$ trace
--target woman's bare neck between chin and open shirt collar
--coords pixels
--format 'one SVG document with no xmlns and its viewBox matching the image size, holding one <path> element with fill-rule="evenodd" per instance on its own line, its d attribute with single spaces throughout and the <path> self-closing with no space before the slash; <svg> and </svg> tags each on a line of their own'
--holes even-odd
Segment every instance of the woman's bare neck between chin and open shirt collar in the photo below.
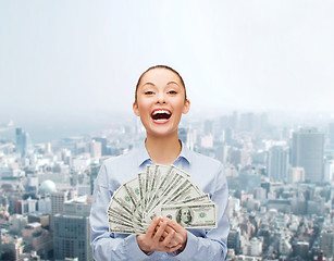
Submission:
<svg viewBox="0 0 334 261">
<path fill-rule="evenodd" d="M 168 137 L 147 135 L 145 146 L 153 163 L 163 165 L 172 164 L 177 159 L 182 149 L 177 132 Z"/>
</svg>

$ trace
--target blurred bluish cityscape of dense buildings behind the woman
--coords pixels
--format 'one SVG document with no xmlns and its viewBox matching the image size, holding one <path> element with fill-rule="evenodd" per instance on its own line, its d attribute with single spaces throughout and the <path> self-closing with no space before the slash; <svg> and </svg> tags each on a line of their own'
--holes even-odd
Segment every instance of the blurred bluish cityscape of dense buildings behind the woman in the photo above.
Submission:
<svg viewBox="0 0 334 261">
<path fill-rule="evenodd" d="M 185 146 L 224 164 L 226 260 L 333 261 L 334 122 L 272 122 L 232 112 L 178 129 Z M 139 120 L 44 144 L 11 122 L 0 138 L 1 260 L 92 260 L 94 182 L 104 159 L 144 141 Z"/>
</svg>

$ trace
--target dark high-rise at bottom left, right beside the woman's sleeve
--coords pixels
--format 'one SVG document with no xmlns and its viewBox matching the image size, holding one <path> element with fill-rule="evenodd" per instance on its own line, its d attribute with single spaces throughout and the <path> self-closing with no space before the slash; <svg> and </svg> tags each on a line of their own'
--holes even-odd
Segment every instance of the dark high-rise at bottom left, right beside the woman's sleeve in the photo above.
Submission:
<svg viewBox="0 0 334 261">
<path fill-rule="evenodd" d="M 89 245 L 89 198 L 83 196 L 66 201 L 64 212 L 54 215 L 54 259 L 77 258 L 79 261 L 92 260 Z"/>
</svg>

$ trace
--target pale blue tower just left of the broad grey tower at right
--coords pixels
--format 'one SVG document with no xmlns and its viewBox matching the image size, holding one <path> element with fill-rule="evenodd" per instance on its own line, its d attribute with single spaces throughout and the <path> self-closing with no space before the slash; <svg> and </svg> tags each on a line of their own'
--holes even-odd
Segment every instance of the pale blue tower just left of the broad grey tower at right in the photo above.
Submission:
<svg viewBox="0 0 334 261">
<path fill-rule="evenodd" d="M 268 175 L 272 182 L 287 182 L 288 148 L 273 146 L 269 151 Z"/>
</svg>

